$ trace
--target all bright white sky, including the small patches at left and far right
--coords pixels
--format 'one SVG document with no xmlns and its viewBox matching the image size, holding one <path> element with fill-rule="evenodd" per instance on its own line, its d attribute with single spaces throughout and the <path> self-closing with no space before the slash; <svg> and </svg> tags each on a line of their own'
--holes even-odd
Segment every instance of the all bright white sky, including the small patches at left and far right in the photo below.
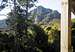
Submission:
<svg viewBox="0 0 75 52">
<path fill-rule="evenodd" d="M 38 0 L 37 6 L 42 5 L 45 8 L 50 8 L 52 10 L 57 10 L 61 13 L 61 0 Z M 0 14 L 7 14 L 9 13 L 10 7 L 6 7 L 4 10 L 0 12 Z M 71 13 L 72 18 L 75 18 L 73 13 Z M 6 16 L 0 16 L 0 20 L 6 19 Z"/>
</svg>

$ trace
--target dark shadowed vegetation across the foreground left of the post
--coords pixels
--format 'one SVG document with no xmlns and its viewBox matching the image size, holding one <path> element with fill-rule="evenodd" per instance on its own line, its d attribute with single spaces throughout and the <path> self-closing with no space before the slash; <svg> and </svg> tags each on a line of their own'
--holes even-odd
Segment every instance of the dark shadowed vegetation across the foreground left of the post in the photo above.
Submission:
<svg viewBox="0 0 75 52">
<path fill-rule="evenodd" d="M 0 52 L 58 52 L 59 41 L 56 33 L 59 34 L 59 31 L 52 30 L 51 27 L 47 30 L 55 35 L 47 34 L 38 25 L 29 26 L 27 35 L 23 32 L 15 35 L 0 32 Z"/>
</svg>

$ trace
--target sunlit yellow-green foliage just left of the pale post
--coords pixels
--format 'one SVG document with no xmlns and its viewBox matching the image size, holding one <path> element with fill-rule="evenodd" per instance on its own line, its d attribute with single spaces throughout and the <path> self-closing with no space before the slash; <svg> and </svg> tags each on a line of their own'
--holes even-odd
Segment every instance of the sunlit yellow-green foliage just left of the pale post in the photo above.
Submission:
<svg viewBox="0 0 75 52">
<path fill-rule="evenodd" d="M 48 42 L 53 43 L 56 39 L 59 39 L 59 23 L 53 22 L 44 28 L 48 34 Z"/>
</svg>

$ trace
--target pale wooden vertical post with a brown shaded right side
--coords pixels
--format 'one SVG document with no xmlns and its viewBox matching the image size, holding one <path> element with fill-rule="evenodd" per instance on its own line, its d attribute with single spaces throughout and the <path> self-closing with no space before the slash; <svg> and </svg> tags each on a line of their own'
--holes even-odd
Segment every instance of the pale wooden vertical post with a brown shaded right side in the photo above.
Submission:
<svg viewBox="0 0 75 52">
<path fill-rule="evenodd" d="M 70 0 L 62 1 L 61 13 L 61 52 L 72 52 L 71 50 L 71 7 Z"/>
</svg>

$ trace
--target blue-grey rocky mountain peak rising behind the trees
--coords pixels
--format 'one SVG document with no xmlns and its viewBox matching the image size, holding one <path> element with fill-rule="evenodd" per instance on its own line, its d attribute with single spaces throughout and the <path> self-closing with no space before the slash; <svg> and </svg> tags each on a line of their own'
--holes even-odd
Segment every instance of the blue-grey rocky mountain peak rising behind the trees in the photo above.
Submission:
<svg viewBox="0 0 75 52">
<path fill-rule="evenodd" d="M 36 9 L 32 10 L 31 15 L 35 14 L 34 22 L 38 23 L 40 21 L 50 22 L 53 19 L 60 19 L 60 13 L 57 10 L 52 10 L 38 6 Z"/>
</svg>

